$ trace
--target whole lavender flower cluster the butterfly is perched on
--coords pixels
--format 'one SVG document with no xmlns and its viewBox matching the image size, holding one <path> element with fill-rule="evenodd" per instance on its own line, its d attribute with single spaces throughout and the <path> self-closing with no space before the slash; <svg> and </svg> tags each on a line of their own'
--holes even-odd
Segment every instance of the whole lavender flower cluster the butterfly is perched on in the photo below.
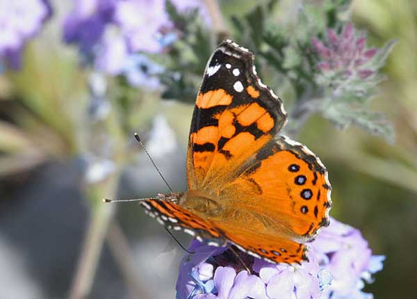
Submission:
<svg viewBox="0 0 417 299">
<path fill-rule="evenodd" d="M 332 219 L 311 242 L 309 261 L 270 264 L 240 252 L 194 240 L 181 261 L 177 299 L 368 299 L 365 282 L 382 270 L 385 257 L 373 255 L 361 232 Z"/>
</svg>

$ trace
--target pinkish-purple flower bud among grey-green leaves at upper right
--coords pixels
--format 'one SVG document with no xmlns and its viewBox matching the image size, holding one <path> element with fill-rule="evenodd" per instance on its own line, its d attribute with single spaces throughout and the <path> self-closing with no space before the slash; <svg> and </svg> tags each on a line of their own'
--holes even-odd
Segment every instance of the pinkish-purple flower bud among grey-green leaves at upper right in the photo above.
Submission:
<svg viewBox="0 0 417 299">
<path fill-rule="evenodd" d="M 342 79 L 367 79 L 376 73 L 370 61 L 378 49 L 366 49 L 366 37 L 357 37 L 351 23 L 337 35 L 333 29 L 327 30 L 327 42 L 313 38 L 312 44 L 319 56 L 318 68 L 325 76 Z"/>
</svg>

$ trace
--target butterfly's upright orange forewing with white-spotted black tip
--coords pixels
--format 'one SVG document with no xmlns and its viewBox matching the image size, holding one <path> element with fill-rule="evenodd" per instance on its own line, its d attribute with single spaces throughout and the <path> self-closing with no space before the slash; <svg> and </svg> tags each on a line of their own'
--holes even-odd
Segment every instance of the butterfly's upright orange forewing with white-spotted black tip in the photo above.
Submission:
<svg viewBox="0 0 417 299">
<path fill-rule="evenodd" d="M 215 192 L 286 121 L 281 100 L 254 69 L 254 55 L 229 40 L 208 60 L 187 155 L 188 188 Z"/>
</svg>

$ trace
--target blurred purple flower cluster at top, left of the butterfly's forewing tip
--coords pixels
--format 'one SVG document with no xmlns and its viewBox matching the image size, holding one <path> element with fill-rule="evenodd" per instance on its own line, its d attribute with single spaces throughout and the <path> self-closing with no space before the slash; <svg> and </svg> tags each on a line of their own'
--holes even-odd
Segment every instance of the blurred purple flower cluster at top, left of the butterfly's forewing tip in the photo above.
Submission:
<svg viewBox="0 0 417 299">
<path fill-rule="evenodd" d="M 174 1 L 174 5 L 179 11 L 203 8 L 191 0 Z M 126 67 L 135 60 L 132 55 L 161 52 L 176 36 L 165 0 L 77 0 L 63 26 L 65 42 L 78 45 L 88 63 L 112 76 L 126 74 Z M 132 74 L 131 69 L 128 73 Z M 138 86 L 140 75 L 134 76 L 127 78 Z M 136 81 L 130 82 L 131 78 Z"/>
</svg>

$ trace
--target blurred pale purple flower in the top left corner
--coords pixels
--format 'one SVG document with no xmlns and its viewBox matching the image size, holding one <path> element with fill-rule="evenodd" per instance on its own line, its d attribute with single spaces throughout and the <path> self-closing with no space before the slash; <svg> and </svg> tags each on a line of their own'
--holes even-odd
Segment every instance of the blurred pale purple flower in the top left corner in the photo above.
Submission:
<svg viewBox="0 0 417 299">
<path fill-rule="evenodd" d="M 24 45 L 50 16 L 47 0 L 0 0 L 0 59 L 19 68 Z"/>
</svg>

